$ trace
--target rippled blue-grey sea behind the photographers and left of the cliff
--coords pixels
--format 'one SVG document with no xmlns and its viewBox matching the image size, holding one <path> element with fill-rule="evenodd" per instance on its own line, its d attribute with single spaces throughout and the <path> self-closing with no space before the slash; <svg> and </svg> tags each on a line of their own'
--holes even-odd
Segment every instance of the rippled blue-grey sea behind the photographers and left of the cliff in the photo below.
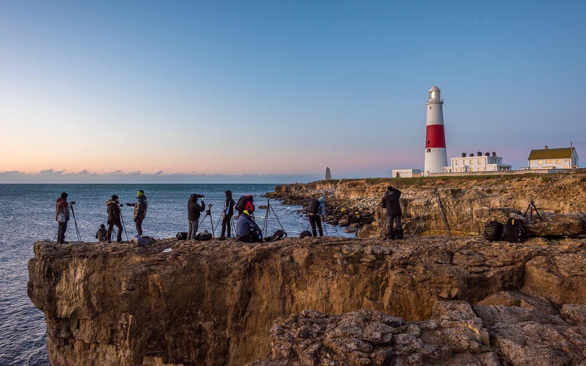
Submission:
<svg viewBox="0 0 586 366">
<path fill-rule="evenodd" d="M 122 203 L 135 202 L 142 189 L 148 198 L 147 218 L 142 224 L 145 235 L 155 238 L 175 237 L 188 231 L 186 206 L 189 195 L 205 195 L 211 203 L 214 228 L 224 207 L 224 191 L 230 189 L 235 200 L 244 194 L 261 195 L 274 190 L 274 184 L 0 184 L 0 365 L 48 365 L 46 325 L 43 313 L 26 295 L 27 263 L 33 257 L 33 244 L 53 240 L 57 232 L 54 221 L 55 200 L 62 191 L 69 194 L 81 240 L 95 241 L 100 224 L 105 224 L 105 201 L 117 194 Z M 255 197 L 255 206 L 267 199 Z M 308 219 L 296 213 L 299 206 L 284 206 L 271 200 L 271 206 L 289 236 L 305 230 Z M 134 207 L 124 206 L 122 218 L 128 237 L 136 235 L 132 214 Z M 256 220 L 262 228 L 266 210 L 257 208 Z M 203 217 L 203 216 L 202 216 Z M 209 217 L 201 225 L 211 231 Z M 269 232 L 280 228 L 271 214 Z M 326 224 L 331 236 L 353 237 L 342 228 Z M 216 232 L 217 234 L 217 232 Z M 219 234 L 217 234 L 219 235 Z M 66 240 L 76 241 L 73 217 L 67 225 Z M 123 235 L 124 240 L 126 239 Z"/>
</svg>

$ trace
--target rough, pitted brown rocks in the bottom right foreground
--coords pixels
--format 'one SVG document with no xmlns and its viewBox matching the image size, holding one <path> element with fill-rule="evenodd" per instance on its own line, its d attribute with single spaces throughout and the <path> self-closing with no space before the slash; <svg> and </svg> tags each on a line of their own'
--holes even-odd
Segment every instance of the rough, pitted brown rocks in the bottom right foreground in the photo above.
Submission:
<svg viewBox="0 0 586 366">
<path fill-rule="evenodd" d="M 270 339 L 267 358 L 248 366 L 577 365 L 586 357 L 584 326 L 534 309 L 464 302 L 437 302 L 424 321 L 306 310 L 277 320 Z"/>
</svg>

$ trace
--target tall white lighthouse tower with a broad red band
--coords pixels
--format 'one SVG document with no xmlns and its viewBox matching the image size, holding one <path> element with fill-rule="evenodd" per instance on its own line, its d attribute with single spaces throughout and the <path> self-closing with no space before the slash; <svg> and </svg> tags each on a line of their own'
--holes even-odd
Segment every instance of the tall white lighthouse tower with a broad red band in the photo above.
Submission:
<svg viewBox="0 0 586 366">
<path fill-rule="evenodd" d="M 448 154 L 445 151 L 444 112 L 440 88 L 431 87 L 427 105 L 427 131 L 425 133 L 425 165 L 424 175 L 443 173 L 448 165 Z"/>
</svg>

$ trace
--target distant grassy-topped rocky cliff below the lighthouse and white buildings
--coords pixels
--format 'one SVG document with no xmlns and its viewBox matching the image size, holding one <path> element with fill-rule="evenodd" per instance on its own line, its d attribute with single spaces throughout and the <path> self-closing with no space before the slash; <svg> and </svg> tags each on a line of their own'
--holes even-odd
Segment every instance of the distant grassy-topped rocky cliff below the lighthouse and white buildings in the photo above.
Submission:
<svg viewBox="0 0 586 366">
<path fill-rule="evenodd" d="M 379 207 L 386 187 L 402 191 L 401 210 L 411 231 L 425 211 L 435 187 L 452 235 L 478 235 L 492 220 L 505 223 L 510 214 L 523 214 L 533 199 L 547 225 L 577 221 L 574 230 L 558 235 L 586 234 L 582 212 L 586 212 L 586 172 L 550 175 L 503 175 L 464 177 L 418 177 L 396 179 L 349 179 L 319 181 L 307 184 L 284 184 L 275 187 L 268 197 L 284 200 L 285 204 L 304 204 L 307 197 L 325 194 L 328 198 L 326 221 L 360 229 L 362 238 L 377 237 L 384 222 Z M 560 215 L 573 214 L 572 218 Z M 577 216 L 576 216 L 577 215 Z M 535 216 L 535 215 L 534 215 Z M 576 218 L 578 217 L 578 218 Z M 538 223 L 533 220 L 533 224 Z M 546 226 L 547 226 L 546 225 Z M 581 227 L 581 228 L 579 228 Z M 544 234 L 543 227 L 530 227 L 530 234 Z M 417 231 L 418 235 L 444 235 L 445 228 L 437 201 L 432 200 Z M 549 235 L 549 234 L 547 234 Z"/>
</svg>

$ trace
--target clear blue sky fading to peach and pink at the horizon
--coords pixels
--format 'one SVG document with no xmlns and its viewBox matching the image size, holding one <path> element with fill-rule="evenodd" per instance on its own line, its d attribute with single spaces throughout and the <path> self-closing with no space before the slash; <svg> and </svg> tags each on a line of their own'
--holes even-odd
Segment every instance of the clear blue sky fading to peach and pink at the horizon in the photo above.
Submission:
<svg viewBox="0 0 586 366">
<path fill-rule="evenodd" d="M 584 1 L 0 2 L 0 183 L 300 182 L 586 142 Z M 586 162 L 586 144 L 575 145 Z M 581 163 L 581 166 L 585 163 Z"/>
</svg>

